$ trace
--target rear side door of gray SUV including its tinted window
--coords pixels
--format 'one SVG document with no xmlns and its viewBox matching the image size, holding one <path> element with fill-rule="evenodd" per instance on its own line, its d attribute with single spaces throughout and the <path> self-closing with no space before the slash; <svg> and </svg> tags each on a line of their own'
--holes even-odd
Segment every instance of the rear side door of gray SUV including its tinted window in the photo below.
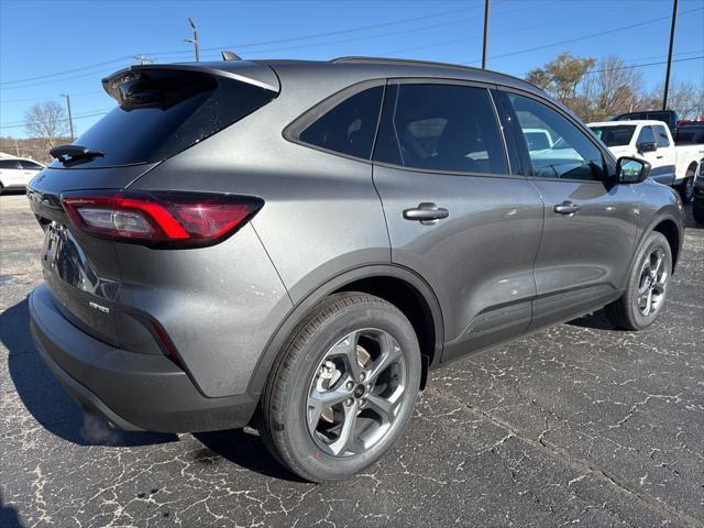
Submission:
<svg viewBox="0 0 704 528">
<path fill-rule="evenodd" d="M 488 87 L 389 81 L 374 162 L 392 261 L 442 307 L 442 361 L 524 332 L 542 202 L 512 174 Z"/>
</svg>

